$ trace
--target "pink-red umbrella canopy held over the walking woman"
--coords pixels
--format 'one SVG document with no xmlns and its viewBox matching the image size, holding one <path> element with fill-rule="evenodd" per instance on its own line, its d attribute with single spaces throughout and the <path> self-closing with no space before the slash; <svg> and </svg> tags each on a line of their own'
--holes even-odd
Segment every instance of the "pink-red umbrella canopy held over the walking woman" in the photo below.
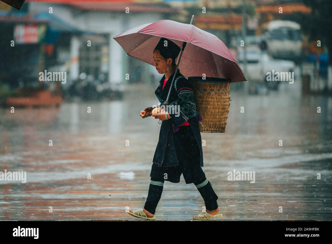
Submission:
<svg viewBox="0 0 332 244">
<path fill-rule="evenodd" d="M 161 37 L 173 41 L 179 47 L 184 41 L 188 42 L 179 64 L 184 76 L 202 77 L 205 74 L 206 77 L 225 78 L 230 82 L 246 80 L 226 45 L 213 34 L 194 25 L 160 20 L 131 28 L 114 37 L 114 40 L 129 56 L 154 66 L 153 50 Z"/>
</svg>

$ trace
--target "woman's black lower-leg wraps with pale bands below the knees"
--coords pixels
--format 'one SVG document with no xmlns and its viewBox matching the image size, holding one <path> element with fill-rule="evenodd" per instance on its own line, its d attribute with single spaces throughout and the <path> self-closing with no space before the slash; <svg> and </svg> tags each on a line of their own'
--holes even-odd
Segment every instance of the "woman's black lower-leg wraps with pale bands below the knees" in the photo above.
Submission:
<svg viewBox="0 0 332 244">
<path fill-rule="evenodd" d="M 151 181 L 164 182 L 164 179 L 151 177 Z M 194 182 L 194 184 L 197 186 L 199 184 L 202 184 L 205 181 L 206 181 L 206 178 L 196 181 L 196 182 Z M 159 203 L 161 194 L 163 192 L 163 188 L 164 188 L 163 186 L 156 186 L 156 185 L 150 184 L 149 192 L 148 192 L 147 199 L 146 199 L 146 202 L 144 205 L 145 210 L 149 211 L 152 214 L 155 214 L 157 204 Z M 205 186 L 200 187 L 197 190 L 201 194 L 207 210 L 212 211 L 214 209 L 217 209 L 218 196 L 213 191 L 212 185 L 209 181 Z"/>
</svg>

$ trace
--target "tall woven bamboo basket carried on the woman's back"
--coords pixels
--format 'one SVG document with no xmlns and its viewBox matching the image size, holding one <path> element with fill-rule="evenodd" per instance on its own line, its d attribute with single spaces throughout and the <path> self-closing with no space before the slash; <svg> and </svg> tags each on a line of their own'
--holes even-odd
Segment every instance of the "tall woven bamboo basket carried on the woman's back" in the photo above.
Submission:
<svg viewBox="0 0 332 244">
<path fill-rule="evenodd" d="M 202 121 L 201 132 L 225 132 L 230 105 L 230 81 L 228 79 L 192 76 L 188 77 L 194 86 L 197 112 Z"/>
</svg>

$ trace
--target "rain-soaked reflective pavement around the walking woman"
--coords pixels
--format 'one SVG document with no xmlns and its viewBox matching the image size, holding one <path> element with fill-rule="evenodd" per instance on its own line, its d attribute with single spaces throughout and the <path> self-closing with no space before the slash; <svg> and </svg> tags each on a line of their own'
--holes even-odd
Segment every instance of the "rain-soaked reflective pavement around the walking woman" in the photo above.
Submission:
<svg viewBox="0 0 332 244">
<path fill-rule="evenodd" d="M 157 105 L 156 87 L 128 85 L 124 101 L 1 108 L 0 171 L 26 171 L 27 183 L 0 181 L 0 220 L 145 221 L 125 208 L 147 197 L 160 124 L 139 112 Z M 298 81 L 265 96 L 230 91 L 226 133 L 201 133 L 219 220 L 332 220 L 332 97 L 303 97 Z M 229 181 L 233 170 L 255 183 Z M 181 176 L 165 182 L 155 216 L 192 220 L 203 206 Z"/>
</svg>

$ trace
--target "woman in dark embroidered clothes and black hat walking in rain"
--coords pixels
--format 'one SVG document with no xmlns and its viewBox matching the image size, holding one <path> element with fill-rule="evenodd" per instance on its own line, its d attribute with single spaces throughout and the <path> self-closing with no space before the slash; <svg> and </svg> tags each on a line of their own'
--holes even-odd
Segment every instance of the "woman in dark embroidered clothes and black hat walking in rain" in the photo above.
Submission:
<svg viewBox="0 0 332 244">
<path fill-rule="evenodd" d="M 200 116 L 196 111 L 193 86 L 179 70 L 175 74 L 175 59 L 179 53 L 180 48 L 166 38 L 161 38 L 153 51 L 156 70 L 159 74 L 164 74 L 155 94 L 163 104 L 175 75 L 168 101 L 169 105 L 174 105 L 175 108 L 178 106 L 179 111 L 176 112 L 173 109 L 170 114 L 167 109 L 165 111 L 160 108 L 160 113 L 152 114 L 152 107 L 144 109 L 142 118 L 153 116 L 162 123 L 152 160 L 151 180 L 144 208 L 128 210 L 128 213 L 135 217 L 156 219 L 154 214 L 163 191 L 164 181 L 179 183 L 181 174 L 186 184 L 194 183 L 206 206 L 206 212 L 193 216 L 193 219 L 204 220 L 222 216 L 217 214 L 219 212 L 218 197 L 202 170 L 203 150 L 198 127 Z"/>
</svg>

